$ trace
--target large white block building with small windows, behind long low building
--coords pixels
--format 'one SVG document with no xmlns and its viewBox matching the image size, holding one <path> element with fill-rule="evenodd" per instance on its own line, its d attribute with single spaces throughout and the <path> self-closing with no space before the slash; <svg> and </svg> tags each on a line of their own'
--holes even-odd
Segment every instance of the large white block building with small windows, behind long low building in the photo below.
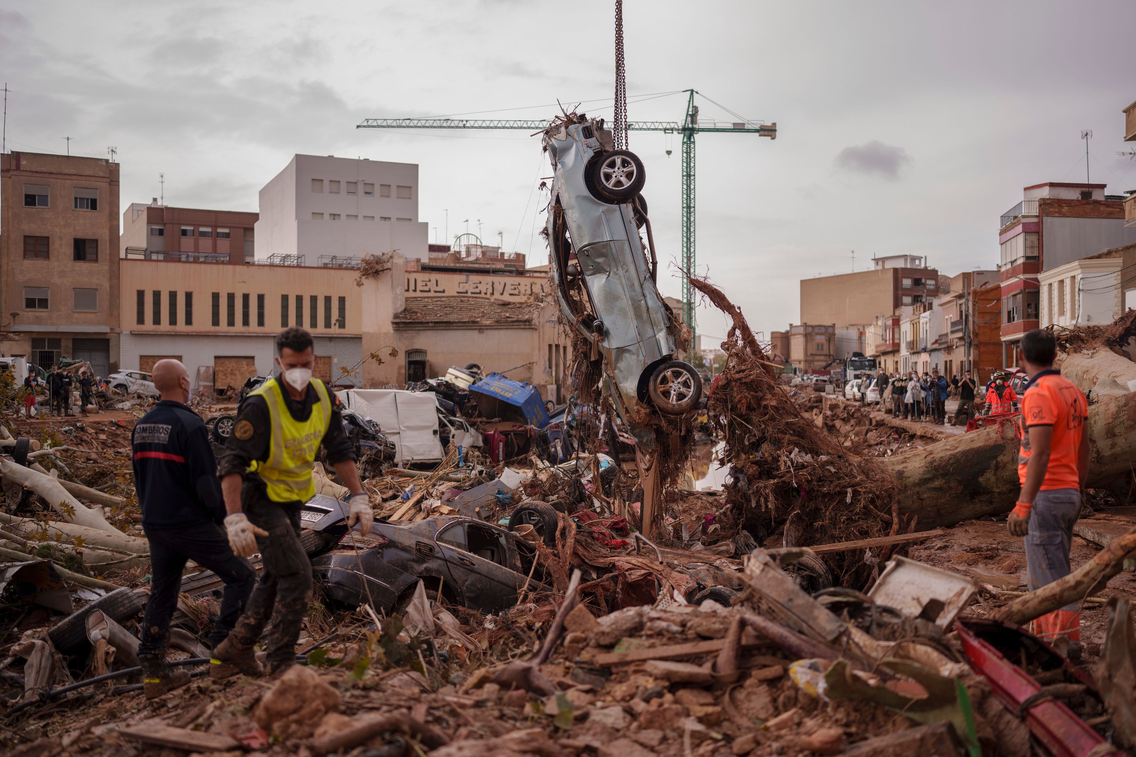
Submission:
<svg viewBox="0 0 1136 757">
<path fill-rule="evenodd" d="M 303 255 L 300 264 L 325 266 L 398 250 L 425 261 L 427 239 L 417 163 L 298 154 L 260 190 L 258 260 Z"/>
</svg>

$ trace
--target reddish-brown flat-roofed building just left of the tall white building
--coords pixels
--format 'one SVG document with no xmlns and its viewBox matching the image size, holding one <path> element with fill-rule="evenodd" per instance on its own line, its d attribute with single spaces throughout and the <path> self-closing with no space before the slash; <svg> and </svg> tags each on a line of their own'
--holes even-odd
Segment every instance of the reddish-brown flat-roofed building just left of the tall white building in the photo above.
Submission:
<svg viewBox="0 0 1136 757">
<path fill-rule="evenodd" d="M 123 211 L 118 254 L 133 260 L 251 263 L 258 213 L 132 202 Z"/>
</svg>

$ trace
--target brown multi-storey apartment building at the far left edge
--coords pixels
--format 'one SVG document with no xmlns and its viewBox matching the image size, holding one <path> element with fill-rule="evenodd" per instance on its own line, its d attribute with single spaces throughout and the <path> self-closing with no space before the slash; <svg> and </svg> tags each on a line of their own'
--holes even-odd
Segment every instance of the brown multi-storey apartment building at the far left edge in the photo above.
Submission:
<svg viewBox="0 0 1136 757">
<path fill-rule="evenodd" d="M 118 163 L 0 155 L 0 352 L 119 363 Z"/>
</svg>

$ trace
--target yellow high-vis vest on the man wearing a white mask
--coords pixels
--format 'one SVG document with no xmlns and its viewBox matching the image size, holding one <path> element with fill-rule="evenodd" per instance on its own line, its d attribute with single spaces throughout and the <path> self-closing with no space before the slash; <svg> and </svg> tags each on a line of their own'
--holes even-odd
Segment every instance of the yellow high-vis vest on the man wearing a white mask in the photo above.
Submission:
<svg viewBox="0 0 1136 757">
<path fill-rule="evenodd" d="M 272 438 L 268 459 L 253 461 L 249 470 L 265 482 L 268 498 L 273 502 L 307 502 L 316 496 L 311 466 L 332 421 L 332 398 L 319 379 L 311 379 L 311 386 L 319 396 L 319 403 L 311 406 L 311 414 L 306 421 L 292 418 L 278 379 L 265 381 L 250 393 L 265 398 L 272 420 Z"/>
</svg>

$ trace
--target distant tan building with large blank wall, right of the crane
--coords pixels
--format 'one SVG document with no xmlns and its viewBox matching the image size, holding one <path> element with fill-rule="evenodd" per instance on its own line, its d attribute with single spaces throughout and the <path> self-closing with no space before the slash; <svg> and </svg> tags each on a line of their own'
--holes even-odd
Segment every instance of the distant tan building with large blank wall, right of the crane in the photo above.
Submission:
<svg viewBox="0 0 1136 757">
<path fill-rule="evenodd" d="M 938 271 L 922 255 L 874 258 L 870 271 L 801 279 L 801 322 L 849 328 L 938 294 Z"/>
</svg>

